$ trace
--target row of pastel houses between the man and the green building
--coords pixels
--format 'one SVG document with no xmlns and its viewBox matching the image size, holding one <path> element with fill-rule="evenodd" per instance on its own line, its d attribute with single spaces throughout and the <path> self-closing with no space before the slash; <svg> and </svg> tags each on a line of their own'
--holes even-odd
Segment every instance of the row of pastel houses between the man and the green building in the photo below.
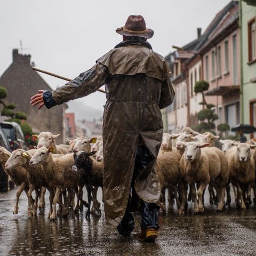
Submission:
<svg viewBox="0 0 256 256">
<path fill-rule="evenodd" d="M 195 93 L 196 82 L 209 82 L 206 102 L 212 103 L 219 123 L 231 127 L 240 122 L 240 54 L 238 1 L 230 1 L 220 10 L 197 39 L 166 56 L 172 70 L 175 102 L 166 109 L 168 131 L 198 124 L 202 94 Z"/>
</svg>

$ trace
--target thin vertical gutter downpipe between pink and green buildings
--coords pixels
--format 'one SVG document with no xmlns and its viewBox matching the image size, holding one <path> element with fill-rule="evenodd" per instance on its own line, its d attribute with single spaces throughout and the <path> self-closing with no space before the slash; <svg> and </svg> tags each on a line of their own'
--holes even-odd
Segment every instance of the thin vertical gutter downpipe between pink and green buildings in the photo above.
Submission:
<svg viewBox="0 0 256 256">
<path fill-rule="evenodd" d="M 242 35 L 242 0 L 239 0 L 239 36 L 240 36 L 240 123 L 244 123 L 244 77 L 243 77 L 243 35 Z"/>
</svg>

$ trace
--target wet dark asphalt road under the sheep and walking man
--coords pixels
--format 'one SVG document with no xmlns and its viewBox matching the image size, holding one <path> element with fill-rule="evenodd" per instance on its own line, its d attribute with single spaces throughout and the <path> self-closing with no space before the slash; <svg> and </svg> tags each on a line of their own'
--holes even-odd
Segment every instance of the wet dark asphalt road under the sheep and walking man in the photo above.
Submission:
<svg viewBox="0 0 256 256">
<path fill-rule="evenodd" d="M 46 197 L 47 198 L 47 197 Z M 99 197 L 100 198 L 100 197 Z M 0 194 L 0 255 L 256 255 L 256 207 L 249 210 L 226 209 L 215 213 L 205 197 L 204 215 L 187 215 L 176 209 L 160 215 L 160 236 L 156 243 L 137 240 L 137 228 L 130 237 L 121 237 L 115 227 L 101 217 L 85 220 L 85 211 L 68 219 L 47 219 L 46 209 L 37 217 L 27 217 L 27 199 L 23 193 L 18 215 L 13 215 L 15 190 Z M 101 207 L 103 210 L 103 207 Z M 103 212 L 103 211 L 102 211 Z"/>
</svg>

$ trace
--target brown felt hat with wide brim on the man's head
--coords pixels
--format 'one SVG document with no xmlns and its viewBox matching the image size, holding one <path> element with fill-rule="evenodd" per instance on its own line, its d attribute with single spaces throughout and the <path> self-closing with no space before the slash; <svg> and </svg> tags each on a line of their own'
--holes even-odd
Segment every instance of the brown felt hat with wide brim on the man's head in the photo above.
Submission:
<svg viewBox="0 0 256 256">
<path fill-rule="evenodd" d="M 146 27 L 146 22 L 141 15 L 130 15 L 124 27 L 117 28 L 116 33 L 123 36 L 140 36 L 147 39 L 154 35 L 154 31 Z"/>
</svg>

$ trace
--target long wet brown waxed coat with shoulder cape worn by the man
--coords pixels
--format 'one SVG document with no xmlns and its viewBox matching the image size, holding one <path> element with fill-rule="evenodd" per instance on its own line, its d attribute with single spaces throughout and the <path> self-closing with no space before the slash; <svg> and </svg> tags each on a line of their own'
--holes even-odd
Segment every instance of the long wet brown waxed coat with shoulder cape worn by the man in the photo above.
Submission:
<svg viewBox="0 0 256 256">
<path fill-rule="evenodd" d="M 93 68 L 50 95 L 50 101 L 61 104 L 106 84 L 103 198 L 106 219 L 115 226 L 126 210 L 139 141 L 155 158 L 138 176 L 137 194 L 148 203 L 157 203 L 161 194 L 154 165 L 163 134 L 160 109 L 174 98 L 169 76 L 165 59 L 151 50 L 149 43 L 130 40 L 118 44 Z"/>
</svg>

